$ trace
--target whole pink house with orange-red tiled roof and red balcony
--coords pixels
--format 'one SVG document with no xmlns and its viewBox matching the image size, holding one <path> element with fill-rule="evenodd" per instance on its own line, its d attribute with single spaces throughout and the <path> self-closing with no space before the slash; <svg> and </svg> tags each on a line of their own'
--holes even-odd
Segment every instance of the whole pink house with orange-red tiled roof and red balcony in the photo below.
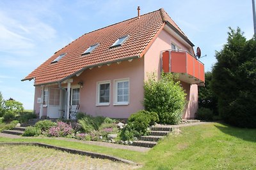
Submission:
<svg viewBox="0 0 256 170">
<path fill-rule="evenodd" d="M 84 34 L 55 52 L 25 80 L 35 81 L 40 117 L 70 118 L 70 110 L 128 118 L 143 110 L 143 82 L 161 71 L 179 75 L 187 93 L 183 118 L 194 118 L 204 64 L 193 43 L 160 10 Z"/>
</svg>

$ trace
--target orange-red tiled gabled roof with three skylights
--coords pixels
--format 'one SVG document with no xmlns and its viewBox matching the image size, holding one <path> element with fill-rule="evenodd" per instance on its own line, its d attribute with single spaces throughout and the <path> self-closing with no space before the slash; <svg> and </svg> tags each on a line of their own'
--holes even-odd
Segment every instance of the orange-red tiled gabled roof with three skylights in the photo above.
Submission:
<svg viewBox="0 0 256 170">
<path fill-rule="evenodd" d="M 88 67 L 142 57 L 165 24 L 170 25 L 182 38 L 190 42 L 184 32 L 161 8 L 141 15 L 140 18 L 131 18 L 84 34 L 54 53 L 22 81 L 35 78 L 35 85 L 60 83 Z M 122 46 L 109 48 L 116 39 L 126 35 L 129 38 Z M 92 53 L 82 55 L 88 47 L 97 43 L 99 45 Z M 191 46 L 193 46 L 192 43 Z M 51 63 L 63 53 L 65 53 L 63 58 L 58 62 Z"/>
</svg>

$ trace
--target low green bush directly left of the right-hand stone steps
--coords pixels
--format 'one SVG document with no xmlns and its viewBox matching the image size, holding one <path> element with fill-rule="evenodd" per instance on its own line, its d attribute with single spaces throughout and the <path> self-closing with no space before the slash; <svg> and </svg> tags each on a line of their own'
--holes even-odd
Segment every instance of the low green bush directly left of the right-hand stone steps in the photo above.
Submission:
<svg viewBox="0 0 256 170">
<path fill-rule="evenodd" d="M 147 134 L 147 128 L 157 121 L 159 121 L 159 118 L 156 112 L 138 111 L 129 117 L 120 137 L 124 140 L 132 140 L 134 137 L 143 136 Z"/>
</svg>

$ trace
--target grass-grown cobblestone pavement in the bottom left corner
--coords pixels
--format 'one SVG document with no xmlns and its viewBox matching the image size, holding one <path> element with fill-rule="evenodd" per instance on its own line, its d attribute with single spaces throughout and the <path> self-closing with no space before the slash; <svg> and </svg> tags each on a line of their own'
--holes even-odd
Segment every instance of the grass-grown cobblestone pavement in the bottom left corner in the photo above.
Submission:
<svg viewBox="0 0 256 170">
<path fill-rule="evenodd" d="M 0 146 L 0 169 L 136 169 L 138 166 L 92 159 L 37 146 Z"/>
</svg>

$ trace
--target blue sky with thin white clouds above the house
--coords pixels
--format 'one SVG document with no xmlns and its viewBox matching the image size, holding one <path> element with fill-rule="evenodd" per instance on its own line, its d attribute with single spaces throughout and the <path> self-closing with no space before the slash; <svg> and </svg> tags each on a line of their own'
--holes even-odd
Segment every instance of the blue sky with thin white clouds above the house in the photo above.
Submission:
<svg viewBox="0 0 256 170">
<path fill-rule="evenodd" d="M 140 13 L 164 10 L 195 45 L 205 71 L 227 42 L 228 27 L 253 37 L 251 0 L 0 0 L 0 92 L 33 109 L 34 82 L 20 81 L 63 46 L 86 32 Z"/>
</svg>

